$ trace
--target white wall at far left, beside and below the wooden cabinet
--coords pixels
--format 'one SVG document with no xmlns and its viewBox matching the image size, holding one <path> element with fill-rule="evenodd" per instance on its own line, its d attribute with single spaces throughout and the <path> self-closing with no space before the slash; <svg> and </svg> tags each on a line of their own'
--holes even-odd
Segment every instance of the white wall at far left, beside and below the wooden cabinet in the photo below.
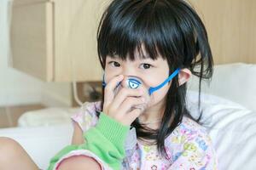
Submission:
<svg viewBox="0 0 256 170">
<path fill-rule="evenodd" d="M 71 105 L 70 83 L 47 83 L 9 67 L 9 0 L 0 0 L 0 106 Z"/>
</svg>

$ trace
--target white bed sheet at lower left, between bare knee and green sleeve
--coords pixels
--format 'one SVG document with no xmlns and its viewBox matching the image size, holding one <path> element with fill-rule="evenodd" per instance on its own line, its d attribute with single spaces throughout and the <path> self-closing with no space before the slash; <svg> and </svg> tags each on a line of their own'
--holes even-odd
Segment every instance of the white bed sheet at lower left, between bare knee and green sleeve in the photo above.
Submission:
<svg viewBox="0 0 256 170">
<path fill-rule="evenodd" d="M 41 169 L 47 169 L 49 160 L 71 143 L 71 124 L 53 127 L 13 127 L 0 129 L 0 136 L 15 139 Z"/>
</svg>

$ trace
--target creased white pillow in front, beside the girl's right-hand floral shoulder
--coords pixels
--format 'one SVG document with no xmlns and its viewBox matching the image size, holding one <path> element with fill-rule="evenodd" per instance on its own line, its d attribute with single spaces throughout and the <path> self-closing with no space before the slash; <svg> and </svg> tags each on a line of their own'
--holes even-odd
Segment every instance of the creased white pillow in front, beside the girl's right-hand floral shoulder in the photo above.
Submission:
<svg viewBox="0 0 256 170">
<path fill-rule="evenodd" d="M 189 91 L 188 108 L 198 116 L 198 93 Z M 207 127 L 220 170 L 253 170 L 256 167 L 256 111 L 230 100 L 201 94 L 201 122 Z"/>
</svg>

